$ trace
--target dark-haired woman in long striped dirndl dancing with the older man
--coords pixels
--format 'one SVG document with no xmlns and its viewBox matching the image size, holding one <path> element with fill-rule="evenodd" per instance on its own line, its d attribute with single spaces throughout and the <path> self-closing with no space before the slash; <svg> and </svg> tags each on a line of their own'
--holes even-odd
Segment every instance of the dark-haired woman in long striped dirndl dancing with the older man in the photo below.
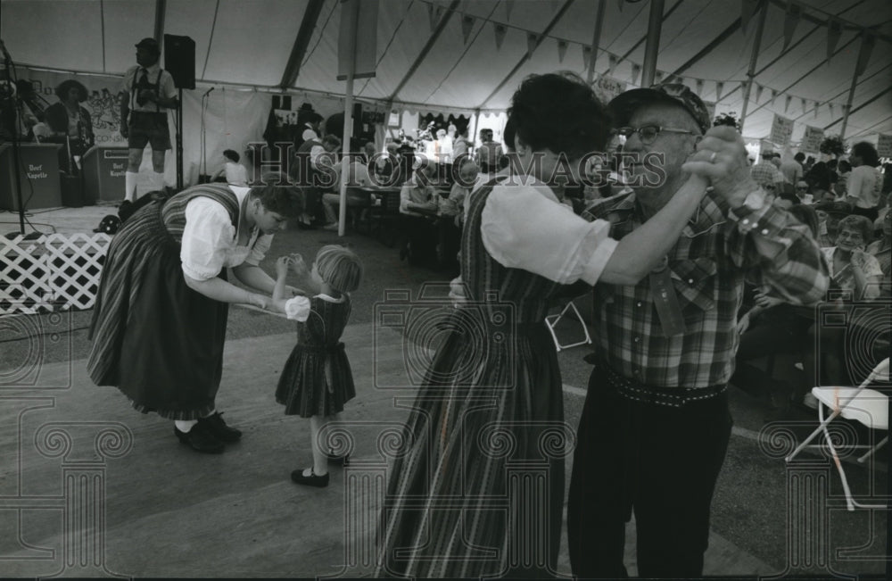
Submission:
<svg viewBox="0 0 892 581">
<path fill-rule="evenodd" d="M 505 131 L 515 171 L 470 197 L 464 298 L 387 475 L 377 577 L 558 574 L 574 429 L 545 316 L 599 280 L 646 276 L 706 192 L 691 178 L 641 229 L 609 238 L 609 222 L 582 219 L 556 195 L 562 178 L 580 178 L 586 154 L 603 151 L 608 130 L 572 73 L 533 75 L 516 91 Z"/>
</svg>

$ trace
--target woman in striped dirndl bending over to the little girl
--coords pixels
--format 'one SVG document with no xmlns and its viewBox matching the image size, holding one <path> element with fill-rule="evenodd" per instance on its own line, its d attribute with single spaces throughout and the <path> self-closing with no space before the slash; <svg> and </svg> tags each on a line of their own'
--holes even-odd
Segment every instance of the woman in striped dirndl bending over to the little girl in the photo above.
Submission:
<svg viewBox="0 0 892 581">
<path fill-rule="evenodd" d="M 265 175 L 264 184 L 287 184 Z M 148 203 L 109 246 L 96 296 L 87 369 L 133 407 L 175 421 L 196 452 L 223 452 L 242 433 L 216 409 L 229 303 L 268 308 L 260 269 L 272 236 L 302 211 L 293 187 L 190 187 Z M 227 268 L 254 292 L 227 282 Z"/>
</svg>

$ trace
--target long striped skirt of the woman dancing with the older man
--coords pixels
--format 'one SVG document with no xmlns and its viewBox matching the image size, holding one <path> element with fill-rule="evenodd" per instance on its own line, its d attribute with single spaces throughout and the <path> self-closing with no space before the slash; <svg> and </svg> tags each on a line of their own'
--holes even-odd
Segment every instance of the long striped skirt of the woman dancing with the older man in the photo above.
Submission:
<svg viewBox="0 0 892 581">
<path fill-rule="evenodd" d="M 558 358 L 544 323 L 495 344 L 453 331 L 388 474 L 376 577 L 557 573 L 564 458 Z"/>
</svg>

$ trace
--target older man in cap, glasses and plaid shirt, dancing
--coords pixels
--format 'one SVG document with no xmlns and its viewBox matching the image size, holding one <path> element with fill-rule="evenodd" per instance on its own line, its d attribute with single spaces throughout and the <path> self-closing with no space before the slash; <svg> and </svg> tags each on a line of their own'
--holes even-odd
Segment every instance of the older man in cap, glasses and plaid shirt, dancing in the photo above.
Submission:
<svg viewBox="0 0 892 581">
<path fill-rule="evenodd" d="M 807 227 L 764 203 L 737 130 L 710 129 L 690 89 L 635 89 L 608 108 L 625 137 L 632 189 L 586 213 L 613 222 L 611 237 L 654 216 L 686 170 L 709 178 L 712 191 L 657 270 L 634 286 L 594 287 L 595 369 L 574 452 L 570 560 L 578 577 L 626 577 L 634 511 L 640 577 L 699 577 L 731 436 L 726 387 L 744 277 L 812 304 L 827 289 L 827 265 Z"/>
</svg>

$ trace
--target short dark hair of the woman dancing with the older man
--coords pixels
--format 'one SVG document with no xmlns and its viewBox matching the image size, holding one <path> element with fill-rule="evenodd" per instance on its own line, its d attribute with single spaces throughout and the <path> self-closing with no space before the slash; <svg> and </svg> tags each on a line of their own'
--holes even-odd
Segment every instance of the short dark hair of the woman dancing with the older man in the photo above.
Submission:
<svg viewBox="0 0 892 581">
<path fill-rule="evenodd" d="M 520 139 L 574 159 L 604 151 L 609 137 L 607 109 L 573 72 L 530 75 L 511 97 L 505 142 L 512 149 Z"/>
</svg>

